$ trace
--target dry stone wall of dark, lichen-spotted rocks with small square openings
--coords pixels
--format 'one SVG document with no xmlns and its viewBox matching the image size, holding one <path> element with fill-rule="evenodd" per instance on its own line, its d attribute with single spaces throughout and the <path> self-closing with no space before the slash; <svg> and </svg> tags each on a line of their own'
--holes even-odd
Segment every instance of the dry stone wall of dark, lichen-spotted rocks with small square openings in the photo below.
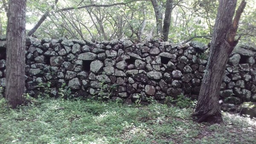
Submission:
<svg viewBox="0 0 256 144">
<path fill-rule="evenodd" d="M 163 102 L 167 96 L 198 97 L 207 60 L 207 45 L 183 45 L 159 40 L 133 43 L 111 40 L 37 40 L 26 37 L 26 92 L 38 95 L 38 84 L 50 82 L 50 94 L 68 86 L 73 97 L 101 92 L 111 99 L 147 104 L 148 98 Z M 230 55 L 221 85 L 220 99 L 240 104 L 256 101 L 256 46 L 236 47 Z M 204 56 L 207 58 L 207 55 Z M 5 87 L 6 38 L 0 36 L 0 86 Z M 108 95 L 111 93 L 111 95 Z"/>
</svg>

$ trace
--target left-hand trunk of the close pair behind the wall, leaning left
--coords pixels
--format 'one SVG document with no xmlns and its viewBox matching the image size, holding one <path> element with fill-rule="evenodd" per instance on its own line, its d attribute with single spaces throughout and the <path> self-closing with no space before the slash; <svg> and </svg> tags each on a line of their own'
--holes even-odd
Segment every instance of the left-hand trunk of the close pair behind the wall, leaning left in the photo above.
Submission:
<svg viewBox="0 0 256 144">
<path fill-rule="evenodd" d="M 162 27 L 163 14 L 162 14 L 161 5 L 159 6 L 157 4 L 157 0 L 151 0 L 151 3 L 154 8 L 156 22 L 157 22 L 157 35 L 159 37 L 162 37 L 162 35 L 163 35 L 163 27 Z"/>
</svg>

